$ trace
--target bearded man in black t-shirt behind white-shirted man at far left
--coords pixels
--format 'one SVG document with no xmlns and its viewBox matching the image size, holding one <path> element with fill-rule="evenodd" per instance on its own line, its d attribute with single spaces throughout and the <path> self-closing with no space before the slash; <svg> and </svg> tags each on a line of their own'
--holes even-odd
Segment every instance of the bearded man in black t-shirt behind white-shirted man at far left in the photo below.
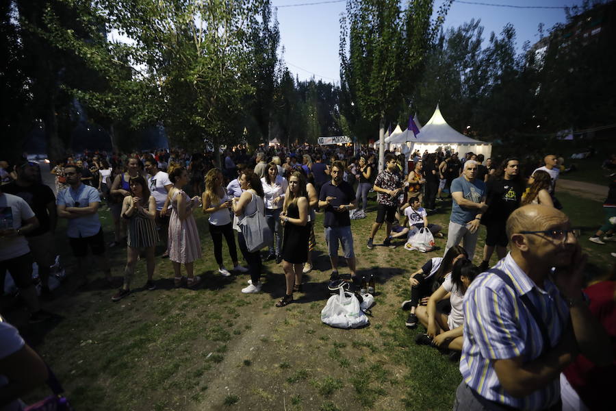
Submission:
<svg viewBox="0 0 616 411">
<path fill-rule="evenodd" d="M 49 267 L 54 260 L 54 234 L 57 224 L 55 196 L 48 186 L 40 182 L 38 164 L 21 160 L 16 164 L 17 179 L 2 187 L 4 192 L 21 197 L 38 219 L 38 228 L 33 229 L 25 238 L 30 247 L 30 253 L 38 264 L 40 277 L 40 296 L 51 298 L 49 290 Z"/>
</svg>

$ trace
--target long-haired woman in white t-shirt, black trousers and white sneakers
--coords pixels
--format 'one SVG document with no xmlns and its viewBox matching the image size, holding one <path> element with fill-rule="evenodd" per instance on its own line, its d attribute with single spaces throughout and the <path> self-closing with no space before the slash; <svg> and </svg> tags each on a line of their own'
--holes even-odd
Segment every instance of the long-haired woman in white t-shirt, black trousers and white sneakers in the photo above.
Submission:
<svg viewBox="0 0 616 411">
<path fill-rule="evenodd" d="M 218 263 L 218 273 L 224 277 L 229 277 L 231 273 L 224 268 L 222 262 L 222 236 L 227 240 L 229 255 L 233 262 L 233 271 L 246 273 L 248 269 L 240 266 L 238 262 L 238 249 L 235 247 L 235 235 L 233 234 L 233 223 L 231 222 L 231 197 L 227 195 L 227 190 L 222 187 L 222 172 L 218 169 L 211 169 L 205 175 L 205 191 L 201 195 L 203 200 L 203 213 L 209 214 L 209 235 L 214 242 L 214 258 Z"/>
</svg>

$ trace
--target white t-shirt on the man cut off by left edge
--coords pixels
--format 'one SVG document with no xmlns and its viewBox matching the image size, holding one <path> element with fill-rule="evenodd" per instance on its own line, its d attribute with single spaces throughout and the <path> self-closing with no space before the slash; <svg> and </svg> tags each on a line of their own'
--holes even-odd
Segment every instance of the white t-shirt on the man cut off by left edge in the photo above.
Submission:
<svg viewBox="0 0 616 411">
<path fill-rule="evenodd" d="M 22 222 L 34 217 L 28 203 L 16 195 L 0 193 L 0 227 L 1 229 L 21 228 Z M 24 236 L 0 238 L 0 261 L 10 260 L 30 252 L 28 241 Z"/>
</svg>

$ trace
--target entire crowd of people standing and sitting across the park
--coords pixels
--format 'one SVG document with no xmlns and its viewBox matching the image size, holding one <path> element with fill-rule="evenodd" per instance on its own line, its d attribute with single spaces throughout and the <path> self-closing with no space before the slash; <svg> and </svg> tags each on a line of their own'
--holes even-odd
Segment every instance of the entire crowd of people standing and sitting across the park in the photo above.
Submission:
<svg viewBox="0 0 616 411">
<path fill-rule="evenodd" d="M 30 321 L 50 317 L 40 309 L 31 273 L 35 261 L 41 298 L 51 298 L 49 266 L 58 218 L 67 220 L 66 236 L 83 284 L 92 273 L 86 264 L 91 253 L 95 267 L 115 287 L 106 250 L 126 247 L 123 284 L 112 296 L 119 301 L 131 293 L 142 258 L 146 290 L 156 288 L 157 255 L 172 262 L 175 286 L 194 288 L 204 281 L 194 273 L 194 263 L 202 258 L 194 213 L 201 210 L 207 215 L 218 274 L 248 273 L 242 292 L 257 293 L 263 286 L 263 260 L 275 260 L 285 275 L 275 306 L 283 307 L 304 291 L 303 274 L 313 269 L 317 213 L 322 213 L 319 237 L 329 255 L 331 281 L 365 284 L 356 275 L 351 219 L 372 211 L 368 195 L 373 191 L 374 223 L 364 234 L 368 249 L 377 245 L 383 223 L 384 247 L 395 248 L 397 238 L 424 227 L 444 238 L 443 227 L 428 223 L 428 216 L 440 212 L 437 204 L 451 201 L 443 257 L 431 258 L 411 274 L 410 299 L 402 308 L 410 310 L 407 327 L 426 328 L 416 343 L 459 361 L 463 382 L 455 409 L 556 410 L 561 409 L 561 390 L 563 406 L 573 407 L 566 409 L 583 409 L 580 404 L 590 406 L 606 381 L 616 383 L 616 295 L 606 297 L 606 289 L 613 292 L 616 273 L 606 279 L 605 288 L 581 292 L 585 257 L 577 240 L 580 231 L 571 227 L 556 198 L 556 155 L 546 155 L 541 166 L 531 164 L 530 173 L 518 158 L 496 164 L 482 154 L 459 158 L 441 149 L 415 151 L 408 159 L 388 151 L 382 171 L 370 147 L 355 152 L 352 147 L 300 145 L 251 153 L 238 146 L 224 151 L 221 160 L 217 167 L 211 152 L 182 150 L 84 153 L 58 160 L 51 169 L 57 195 L 42 184 L 36 162 L 16 162 L 3 175 L 8 184 L 0 188 L 0 273 L 3 278 L 10 271 Z M 605 222 L 590 238 L 598 245 L 616 240 L 616 156 L 604 166 L 612 171 Z M 114 240 L 108 244 L 99 219 L 103 206 L 114 221 Z M 272 233 L 264 255 L 251 248 L 241 228 L 255 214 L 264 217 Z M 475 266 L 480 225 L 485 226 L 485 246 Z M 223 237 L 229 265 L 224 264 Z M 338 269 L 341 245 L 348 274 Z M 498 262 L 493 265 L 495 251 Z M 374 292 L 374 286 L 362 291 Z M 611 307 L 608 314 L 601 311 L 605 307 Z M 612 367 L 607 377 L 600 368 L 606 364 Z M 594 372 L 604 379 L 595 384 Z"/>
</svg>

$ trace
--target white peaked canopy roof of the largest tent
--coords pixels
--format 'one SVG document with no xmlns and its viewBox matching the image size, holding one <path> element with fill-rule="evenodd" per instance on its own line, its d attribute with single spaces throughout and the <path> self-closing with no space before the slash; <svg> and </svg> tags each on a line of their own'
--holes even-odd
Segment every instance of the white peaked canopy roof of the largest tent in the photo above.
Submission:
<svg viewBox="0 0 616 411">
<path fill-rule="evenodd" d="M 444 150 L 457 151 L 460 155 L 472 151 L 489 158 L 492 153 L 490 142 L 475 140 L 452 129 L 443 118 L 438 104 L 432 118 L 421 128 L 417 138 L 409 141 L 411 152 L 419 150 L 423 153 L 428 150 L 428 153 L 433 153 L 438 147 L 442 147 Z"/>
</svg>

